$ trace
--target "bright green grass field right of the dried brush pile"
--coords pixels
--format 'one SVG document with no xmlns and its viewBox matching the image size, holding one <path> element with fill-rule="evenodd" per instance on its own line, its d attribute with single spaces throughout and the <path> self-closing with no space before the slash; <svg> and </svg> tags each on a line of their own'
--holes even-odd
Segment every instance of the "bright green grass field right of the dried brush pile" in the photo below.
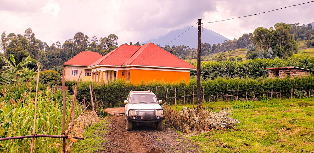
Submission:
<svg viewBox="0 0 314 153">
<path fill-rule="evenodd" d="M 213 111 L 234 106 L 213 102 Z M 314 98 L 257 101 L 252 109 L 234 109 L 235 129 L 191 136 L 201 152 L 313 152 Z M 192 107 L 192 105 L 187 106 Z M 174 107 L 182 109 L 183 106 Z"/>
</svg>

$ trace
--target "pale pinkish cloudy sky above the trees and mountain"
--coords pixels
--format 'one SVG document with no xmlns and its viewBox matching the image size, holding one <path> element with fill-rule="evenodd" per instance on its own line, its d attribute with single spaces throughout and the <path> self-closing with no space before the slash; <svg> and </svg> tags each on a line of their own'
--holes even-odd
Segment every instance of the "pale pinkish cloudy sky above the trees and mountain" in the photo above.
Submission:
<svg viewBox="0 0 314 153">
<path fill-rule="evenodd" d="M 202 22 L 256 14 L 311 0 L 1 0 L 0 31 L 23 34 L 32 28 L 48 45 L 63 43 L 78 31 L 90 38 L 115 34 L 119 45 L 148 41 L 172 30 Z M 269 28 L 277 22 L 300 25 L 314 22 L 314 2 L 271 13 L 204 24 L 229 39 Z M 178 38 L 180 39 L 180 37 Z"/>
</svg>

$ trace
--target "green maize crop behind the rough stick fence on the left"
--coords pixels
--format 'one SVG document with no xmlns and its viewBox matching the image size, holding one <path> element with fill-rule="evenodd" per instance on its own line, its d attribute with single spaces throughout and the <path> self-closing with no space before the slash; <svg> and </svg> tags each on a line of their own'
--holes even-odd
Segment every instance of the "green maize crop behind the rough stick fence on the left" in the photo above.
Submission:
<svg viewBox="0 0 314 153">
<path fill-rule="evenodd" d="M 72 105 L 66 92 L 66 124 Z M 30 135 L 34 121 L 35 92 L 21 90 L 0 96 L 0 138 Z M 78 114 L 78 109 L 76 109 Z M 36 134 L 61 135 L 62 91 L 47 89 L 38 92 Z M 67 126 L 65 126 L 67 127 Z M 34 150 L 40 153 L 62 151 L 61 138 L 36 138 Z M 30 152 L 31 138 L 0 141 L 0 152 Z"/>
</svg>

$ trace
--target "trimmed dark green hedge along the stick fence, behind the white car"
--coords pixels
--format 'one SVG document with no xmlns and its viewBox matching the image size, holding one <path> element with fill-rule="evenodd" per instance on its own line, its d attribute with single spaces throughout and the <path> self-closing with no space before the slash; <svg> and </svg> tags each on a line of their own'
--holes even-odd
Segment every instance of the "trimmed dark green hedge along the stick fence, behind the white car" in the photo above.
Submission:
<svg viewBox="0 0 314 153">
<path fill-rule="evenodd" d="M 282 91 L 283 98 L 290 97 L 291 88 L 294 88 L 294 91 L 299 90 L 308 90 L 313 88 L 314 76 L 309 75 L 306 77 L 300 77 L 295 79 L 269 79 L 269 78 L 216 78 L 214 80 L 202 80 L 201 86 L 204 87 L 204 97 L 205 101 L 211 99 L 211 101 L 220 100 L 221 93 L 226 94 L 227 90 L 243 90 L 242 94 L 245 94 L 245 91 L 254 91 L 257 94 L 257 98 L 262 99 L 263 94 L 267 91 Z M 90 102 L 90 93 L 89 85 L 91 82 L 80 82 L 78 86 L 78 100 L 83 100 L 83 94 L 86 96 L 87 100 Z M 194 86 L 193 86 L 194 85 Z M 158 87 L 158 92 L 156 92 L 156 86 Z M 179 83 L 164 83 L 164 82 L 150 82 L 150 83 L 141 83 L 139 85 L 133 85 L 131 83 L 123 82 L 122 80 L 113 81 L 111 83 L 102 85 L 94 84 L 93 92 L 96 94 L 96 99 L 100 102 L 100 105 L 107 107 L 123 107 L 123 101 L 127 99 L 128 92 L 130 90 L 151 90 L 153 91 L 158 98 L 165 98 L 168 88 L 167 97 L 175 97 L 175 88 L 177 88 L 176 96 L 185 96 L 187 103 L 192 103 L 193 100 L 193 88 L 195 91 L 195 101 L 196 101 L 196 79 L 191 79 L 189 84 L 185 84 L 184 81 Z M 202 89 L 203 90 L 203 89 Z M 240 92 L 241 93 L 241 92 Z M 202 93 L 203 94 L 203 93 Z M 229 91 L 228 95 L 235 95 L 236 91 Z M 295 93 L 295 96 L 298 96 L 298 93 Z M 314 94 L 312 94 L 314 95 Z M 94 96 L 94 93 L 93 93 Z M 249 98 L 252 98 L 252 94 Z M 305 96 L 305 92 L 302 93 L 302 97 Z M 239 98 L 244 98 L 245 96 L 239 96 Z M 236 96 L 229 97 L 230 99 L 235 99 Z M 165 101 L 165 99 L 161 99 Z M 167 99 L 167 102 L 170 104 L 174 103 L 174 98 Z M 177 103 L 183 103 L 183 98 L 177 98 Z"/>
</svg>

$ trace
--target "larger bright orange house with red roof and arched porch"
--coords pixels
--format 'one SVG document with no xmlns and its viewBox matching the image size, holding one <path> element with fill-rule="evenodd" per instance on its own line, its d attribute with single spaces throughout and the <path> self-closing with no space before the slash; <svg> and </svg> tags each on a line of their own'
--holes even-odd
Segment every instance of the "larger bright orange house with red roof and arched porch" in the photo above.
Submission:
<svg viewBox="0 0 314 153">
<path fill-rule="evenodd" d="M 123 79 L 139 84 L 142 81 L 172 83 L 181 80 L 188 83 L 190 70 L 196 68 L 159 46 L 147 43 L 142 46 L 121 45 L 91 62 L 87 69 L 91 70 L 91 78 L 97 83 Z"/>
</svg>

